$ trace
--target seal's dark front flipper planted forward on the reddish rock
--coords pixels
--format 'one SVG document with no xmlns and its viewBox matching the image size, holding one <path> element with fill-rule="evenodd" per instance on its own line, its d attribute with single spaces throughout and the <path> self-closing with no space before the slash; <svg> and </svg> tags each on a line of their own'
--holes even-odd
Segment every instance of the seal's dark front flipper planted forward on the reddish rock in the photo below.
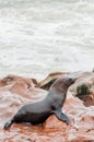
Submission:
<svg viewBox="0 0 94 142">
<path fill-rule="evenodd" d="M 61 110 L 56 110 L 54 111 L 54 114 L 57 116 L 58 119 L 60 119 L 61 121 L 66 121 L 68 125 L 71 123 L 70 119 L 68 118 L 67 115 L 64 115 L 63 113 L 61 113 Z"/>
</svg>

